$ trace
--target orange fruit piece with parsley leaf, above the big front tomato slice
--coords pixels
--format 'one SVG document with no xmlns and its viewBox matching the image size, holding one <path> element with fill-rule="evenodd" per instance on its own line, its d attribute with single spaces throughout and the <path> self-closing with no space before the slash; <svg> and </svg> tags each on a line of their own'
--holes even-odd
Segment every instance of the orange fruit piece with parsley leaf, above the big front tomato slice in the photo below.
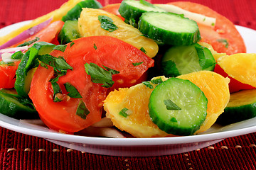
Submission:
<svg viewBox="0 0 256 170">
<path fill-rule="evenodd" d="M 98 16 L 107 16 L 112 18 L 113 23 L 117 26 L 117 30 L 109 32 L 101 28 L 101 23 Z M 137 49 L 144 49 L 146 55 L 154 57 L 158 52 L 158 45 L 154 40 L 146 38 L 142 35 L 137 28 L 124 23 L 121 18 L 115 16 L 112 13 L 103 11 L 100 9 L 84 8 L 81 12 L 81 16 L 78 19 L 78 28 L 82 37 L 89 37 L 94 35 L 107 35 L 137 47 Z"/>
</svg>

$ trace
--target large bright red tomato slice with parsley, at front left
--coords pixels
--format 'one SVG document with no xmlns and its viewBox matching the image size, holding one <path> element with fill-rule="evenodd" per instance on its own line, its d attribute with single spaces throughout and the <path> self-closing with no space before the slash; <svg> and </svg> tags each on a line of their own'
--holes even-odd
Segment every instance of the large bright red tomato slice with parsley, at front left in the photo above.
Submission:
<svg viewBox="0 0 256 170">
<path fill-rule="evenodd" d="M 65 132 L 78 132 L 101 119 L 102 104 L 108 89 L 102 84 L 92 83 L 91 77 L 85 72 L 85 63 L 97 64 L 119 71 L 114 74 L 112 88 L 132 86 L 142 77 L 154 60 L 136 47 L 117 38 L 95 36 L 74 40 L 74 45 L 67 45 L 65 52 L 53 51 L 51 55 L 62 56 L 73 67 L 67 74 L 60 77 L 58 84 L 69 82 L 78 89 L 85 106 L 90 111 L 86 119 L 76 115 L 80 98 L 70 98 L 58 103 L 53 102 L 53 91 L 49 80 L 53 77 L 53 69 L 38 67 L 31 82 L 29 96 L 33 101 L 41 119 L 49 128 Z M 140 63 L 134 66 L 132 63 Z"/>
</svg>

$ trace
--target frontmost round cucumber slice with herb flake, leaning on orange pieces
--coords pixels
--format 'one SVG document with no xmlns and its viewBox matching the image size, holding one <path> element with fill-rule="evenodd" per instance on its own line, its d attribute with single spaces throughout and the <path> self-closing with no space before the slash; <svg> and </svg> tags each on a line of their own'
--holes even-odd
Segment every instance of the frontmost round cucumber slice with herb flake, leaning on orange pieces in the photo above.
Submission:
<svg viewBox="0 0 256 170">
<path fill-rule="evenodd" d="M 191 81 L 170 78 L 152 91 L 149 115 L 164 132 L 192 135 L 206 119 L 207 103 L 203 91 Z"/>
</svg>

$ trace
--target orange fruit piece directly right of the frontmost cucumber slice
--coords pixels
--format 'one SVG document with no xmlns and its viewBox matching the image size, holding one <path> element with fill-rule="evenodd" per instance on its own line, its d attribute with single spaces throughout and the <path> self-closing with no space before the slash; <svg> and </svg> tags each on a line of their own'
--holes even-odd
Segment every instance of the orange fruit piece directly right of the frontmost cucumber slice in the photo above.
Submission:
<svg viewBox="0 0 256 170">
<path fill-rule="evenodd" d="M 230 99 L 228 89 L 229 79 L 210 71 L 193 72 L 179 76 L 196 84 L 208 99 L 207 116 L 201 128 L 195 134 L 208 130 L 223 113 Z"/>
</svg>

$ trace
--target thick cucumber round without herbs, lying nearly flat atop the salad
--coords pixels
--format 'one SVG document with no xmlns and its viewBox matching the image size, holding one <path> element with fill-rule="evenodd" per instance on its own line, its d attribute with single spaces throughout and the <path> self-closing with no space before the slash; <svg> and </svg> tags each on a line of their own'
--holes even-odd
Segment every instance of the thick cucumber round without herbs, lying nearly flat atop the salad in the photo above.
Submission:
<svg viewBox="0 0 256 170">
<path fill-rule="evenodd" d="M 143 13 L 138 27 L 144 35 L 167 45 L 192 45 L 201 39 L 196 21 L 176 13 Z"/>
</svg>

